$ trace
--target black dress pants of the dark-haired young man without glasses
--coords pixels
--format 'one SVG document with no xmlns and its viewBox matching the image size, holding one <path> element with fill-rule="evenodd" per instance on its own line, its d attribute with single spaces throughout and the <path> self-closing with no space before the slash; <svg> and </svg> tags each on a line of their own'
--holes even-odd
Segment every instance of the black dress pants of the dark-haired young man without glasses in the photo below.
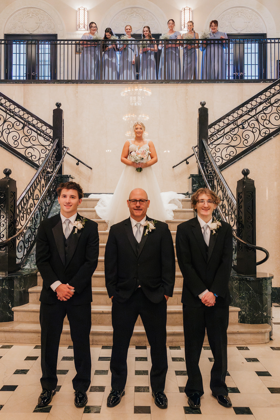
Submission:
<svg viewBox="0 0 280 420">
<path fill-rule="evenodd" d="M 43 389 L 54 390 L 58 383 L 56 375 L 58 364 L 58 347 L 63 328 L 63 320 L 67 315 L 71 339 L 73 341 L 76 376 L 73 388 L 87 391 L 91 382 L 92 361 L 90 355 L 89 333 L 92 325 L 91 304 L 71 305 L 58 301 L 57 304 L 40 305 L 41 325 L 41 385 Z"/>
</svg>

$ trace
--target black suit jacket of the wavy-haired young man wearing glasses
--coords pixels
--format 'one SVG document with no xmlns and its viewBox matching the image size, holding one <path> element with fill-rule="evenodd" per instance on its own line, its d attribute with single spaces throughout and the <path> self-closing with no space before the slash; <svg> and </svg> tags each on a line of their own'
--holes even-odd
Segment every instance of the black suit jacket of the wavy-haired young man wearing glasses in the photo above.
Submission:
<svg viewBox="0 0 280 420">
<path fill-rule="evenodd" d="M 181 223 L 176 234 L 176 254 L 183 274 L 182 303 L 200 307 L 198 295 L 205 289 L 217 294 L 215 306 L 230 304 L 228 282 L 232 267 L 232 228 L 228 223 L 213 235 L 209 247 L 204 242 L 197 218 Z"/>
</svg>

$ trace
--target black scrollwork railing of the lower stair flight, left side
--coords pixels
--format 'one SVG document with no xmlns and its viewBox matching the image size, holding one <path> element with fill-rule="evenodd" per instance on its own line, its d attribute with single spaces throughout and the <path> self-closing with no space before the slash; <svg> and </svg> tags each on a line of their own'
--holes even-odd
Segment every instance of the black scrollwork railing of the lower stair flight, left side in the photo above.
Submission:
<svg viewBox="0 0 280 420">
<path fill-rule="evenodd" d="M 58 139 L 52 144 L 44 162 L 17 201 L 17 233 L 0 242 L 3 247 L 17 239 L 17 263 L 21 266 L 33 248 L 40 222 L 48 216 L 57 195 L 55 176 L 68 151 L 66 147 L 62 159 L 56 162 L 57 143 Z"/>
</svg>

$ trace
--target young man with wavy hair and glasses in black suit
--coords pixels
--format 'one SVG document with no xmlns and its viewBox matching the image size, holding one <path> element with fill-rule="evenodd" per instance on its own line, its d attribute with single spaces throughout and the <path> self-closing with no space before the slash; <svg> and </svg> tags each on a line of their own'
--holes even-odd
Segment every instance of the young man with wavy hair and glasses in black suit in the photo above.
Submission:
<svg viewBox="0 0 280 420">
<path fill-rule="evenodd" d="M 204 394 L 199 358 L 205 336 L 214 357 L 210 388 L 219 404 L 231 407 L 227 373 L 227 328 L 232 266 L 232 228 L 213 220 L 219 204 L 217 195 L 200 188 L 191 197 L 197 217 L 181 223 L 176 234 L 176 253 L 183 274 L 183 324 L 188 381 L 185 393 L 192 408 L 200 407 Z"/>
</svg>

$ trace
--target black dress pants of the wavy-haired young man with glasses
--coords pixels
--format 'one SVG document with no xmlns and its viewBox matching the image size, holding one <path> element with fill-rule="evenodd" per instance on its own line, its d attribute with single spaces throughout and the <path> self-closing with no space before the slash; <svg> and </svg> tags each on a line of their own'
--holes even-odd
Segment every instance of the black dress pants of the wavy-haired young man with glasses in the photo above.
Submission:
<svg viewBox="0 0 280 420">
<path fill-rule="evenodd" d="M 199 369 L 199 358 L 207 331 L 208 341 L 214 357 L 211 369 L 210 388 L 216 395 L 228 395 L 225 376 L 228 369 L 227 329 L 229 307 L 194 308 L 183 304 L 183 324 L 185 337 L 185 358 L 188 381 L 185 392 L 187 396 L 197 392 L 204 394 L 202 376 Z"/>
</svg>

